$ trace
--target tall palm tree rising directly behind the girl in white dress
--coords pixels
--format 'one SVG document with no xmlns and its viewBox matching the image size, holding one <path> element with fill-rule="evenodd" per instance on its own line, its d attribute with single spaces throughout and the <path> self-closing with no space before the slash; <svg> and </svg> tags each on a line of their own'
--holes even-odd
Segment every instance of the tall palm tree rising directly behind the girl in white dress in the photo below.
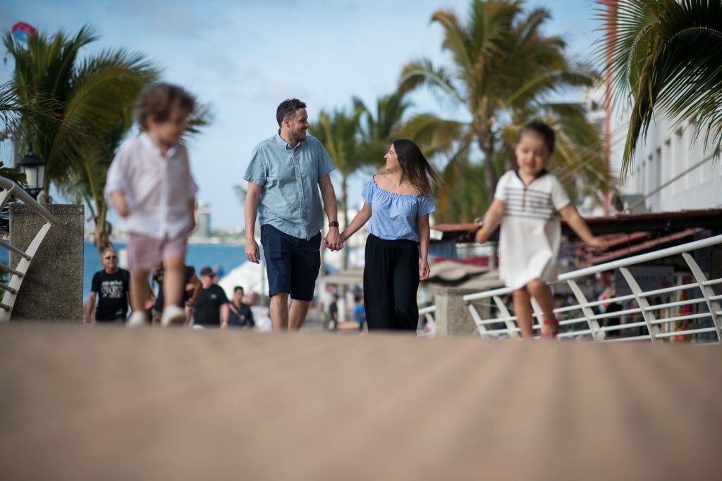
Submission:
<svg viewBox="0 0 722 481">
<path fill-rule="evenodd" d="M 452 53 L 453 65 L 435 66 L 420 58 L 404 66 L 399 82 L 400 92 L 427 87 L 464 111 L 468 120 L 414 115 L 404 133 L 417 140 L 428 155 L 448 155 L 449 165 L 444 170 L 448 182 L 478 182 L 466 173 L 474 165 L 469 159 L 481 151 L 483 169 L 476 170 L 483 172 L 484 202 L 474 206 L 477 213 L 491 202 L 497 178 L 513 159 L 510 147 L 516 131 L 529 120 L 545 120 L 557 131 L 562 148 L 555 156 L 556 169 L 573 173 L 566 178 L 567 186 L 583 177 L 604 188 L 609 179 L 601 143 L 588 149 L 578 144 L 594 131 L 580 115 L 580 107 L 549 101 L 560 89 L 591 87 L 596 76 L 588 66 L 567 60 L 560 37 L 541 33 L 549 19 L 546 9 L 525 15 L 522 5 L 521 0 L 472 0 L 467 22 L 452 11 L 435 12 L 432 22 L 444 29 L 443 48 Z M 599 140 L 597 134 L 595 141 Z M 453 165 L 457 163 L 465 165 Z M 448 184 L 453 190 L 441 193 L 442 207 L 459 199 L 458 190 L 469 190 L 453 182 Z"/>
</svg>

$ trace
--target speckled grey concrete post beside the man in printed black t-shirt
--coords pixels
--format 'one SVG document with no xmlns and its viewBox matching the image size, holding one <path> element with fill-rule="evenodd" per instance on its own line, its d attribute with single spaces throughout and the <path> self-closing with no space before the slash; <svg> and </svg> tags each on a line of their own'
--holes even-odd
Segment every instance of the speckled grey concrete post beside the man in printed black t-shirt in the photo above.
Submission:
<svg viewBox="0 0 722 481">
<path fill-rule="evenodd" d="M 11 322 L 17 320 L 73 321 L 83 318 L 83 223 L 84 206 L 44 206 L 56 216 L 30 262 L 12 309 Z M 10 205 L 10 243 L 25 250 L 45 219 L 30 206 Z M 10 252 L 10 267 L 19 262 Z"/>
</svg>

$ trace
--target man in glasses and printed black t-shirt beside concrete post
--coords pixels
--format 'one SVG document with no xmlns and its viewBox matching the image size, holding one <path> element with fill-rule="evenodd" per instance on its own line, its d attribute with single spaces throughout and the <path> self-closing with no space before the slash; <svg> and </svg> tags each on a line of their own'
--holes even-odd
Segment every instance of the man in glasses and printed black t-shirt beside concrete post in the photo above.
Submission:
<svg viewBox="0 0 722 481">
<path fill-rule="evenodd" d="M 84 321 L 90 322 L 98 296 L 95 320 L 98 322 L 125 322 L 130 302 L 130 273 L 118 268 L 118 254 L 113 249 L 103 252 L 103 270 L 92 276 L 90 297 L 84 313 Z"/>
</svg>

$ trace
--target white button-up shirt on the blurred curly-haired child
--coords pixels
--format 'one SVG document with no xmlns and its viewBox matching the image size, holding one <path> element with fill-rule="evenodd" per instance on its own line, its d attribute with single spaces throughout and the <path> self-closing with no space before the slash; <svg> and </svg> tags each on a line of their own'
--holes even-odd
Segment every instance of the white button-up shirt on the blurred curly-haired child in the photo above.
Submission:
<svg viewBox="0 0 722 481">
<path fill-rule="evenodd" d="M 190 231 L 188 203 L 198 186 L 184 146 L 176 144 L 163 156 L 147 133 L 130 138 L 108 169 L 105 196 L 110 199 L 116 191 L 128 202 L 130 214 L 122 221 L 126 231 L 156 239 L 175 239 Z"/>
</svg>

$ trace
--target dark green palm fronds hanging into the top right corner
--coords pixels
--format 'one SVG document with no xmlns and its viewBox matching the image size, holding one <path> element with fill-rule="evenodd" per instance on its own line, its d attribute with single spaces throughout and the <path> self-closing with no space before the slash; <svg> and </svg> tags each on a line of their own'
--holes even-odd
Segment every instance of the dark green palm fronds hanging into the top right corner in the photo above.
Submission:
<svg viewBox="0 0 722 481">
<path fill-rule="evenodd" d="M 678 125 L 693 120 L 719 155 L 722 146 L 722 2 L 715 0 L 606 0 L 600 63 L 612 71 L 610 101 L 628 102 L 629 130 L 622 175 L 632 166 L 653 115 Z M 714 45 L 718 45 L 715 47 Z"/>
</svg>

